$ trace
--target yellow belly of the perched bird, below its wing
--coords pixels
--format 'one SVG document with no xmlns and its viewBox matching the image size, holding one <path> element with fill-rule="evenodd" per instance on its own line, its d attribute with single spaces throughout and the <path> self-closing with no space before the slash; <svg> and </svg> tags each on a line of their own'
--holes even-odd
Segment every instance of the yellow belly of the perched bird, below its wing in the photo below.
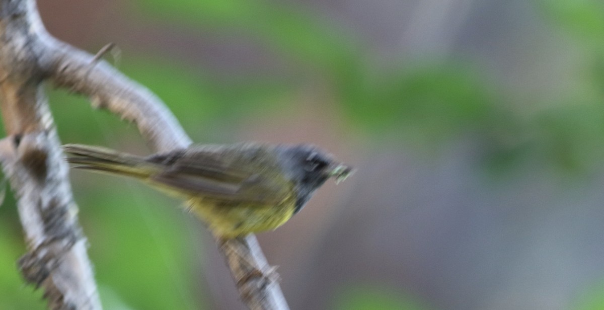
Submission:
<svg viewBox="0 0 604 310">
<path fill-rule="evenodd" d="M 187 204 L 191 212 L 199 216 L 215 236 L 223 238 L 275 230 L 294 215 L 295 209 L 295 199 L 292 196 L 276 205 L 224 203 L 202 198 L 191 198 Z"/>
</svg>

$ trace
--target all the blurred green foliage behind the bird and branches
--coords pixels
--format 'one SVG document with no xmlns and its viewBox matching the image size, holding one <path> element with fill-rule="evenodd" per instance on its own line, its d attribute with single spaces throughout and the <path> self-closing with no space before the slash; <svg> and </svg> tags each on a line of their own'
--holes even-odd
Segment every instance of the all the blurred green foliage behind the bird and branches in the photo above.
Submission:
<svg viewBox="0 0 604 310">
<path fill-rule="evenodd" d="M 223 83 L 153 51 L 124 50 L 119 69 L 168 103 L 196 141 L 230 141 L 234 129 L 223 124 L 278 115 L 288 109 L 284 99 L 300 81 L 319 76 L 335 95 L 345 126 L 353 134 L 371 137 L 377 147 L 398 139 L 432 147 L 475 132 L 493 141 L 485 166 L 497 172 L 513 169 L 526 157 L 573 172 L 602 164 L 604 158 L 602 1 L 532 1 L 547 27 L 571 40 L 582 63 L 573 76 L 560 77 L 577 80 L 579 86 L 568 88 L 559 102 L 548 105 L 551 108 L 528 115 L 512 108 L 508 100 L 513 95 L 499 88 L 496 78 L 473 59 L 428 57 L 376 72 L 365 62 L 366 47 L 358 38 L 342 25 L 294 5 L 259 0 L 129 4 L 142 24 L 173 24 L 216 34 L 236 31 L 300 67 L 297 79 L 242 77 Z M 144 150 L 132 126 L 106 112 L 91 111 L 86 98 L 51 88 L 48 93 L 62 141 Z M 532 100 L 549 99 L 535 94 Z M 198 233 L 193 220 L 178 208 L 165 208 L 177 201 L 134 182 L 124 187 L 109 176 L 91 181 L 80 172 L 72 175 L 77 202 L 85 206 L 80 218 L 92 244 L 89 254 L 106 309 L 211 308 L 210 296 L 199 293 L 206 289 L 198 284 L 203 271 L 194 270 L 199 263 L 195 260 L 204 259 L 206 245 L 200 239 L 192 247 L 191 235 Z M 99 186 L 103 189 L 95 189 Z M 14 206 L 9 195 L 0 208 L 0 309 L 43 309 L 41 292 L 24 286 L 15 268 L 25 250 Z M 603 309 L 601 286 L 586 288 L 570 308 Z M 363 283 L 342 285 L 340 292 L 333 297 L 333 309 L 431 308 L 402 288 Z"/>
</svg>

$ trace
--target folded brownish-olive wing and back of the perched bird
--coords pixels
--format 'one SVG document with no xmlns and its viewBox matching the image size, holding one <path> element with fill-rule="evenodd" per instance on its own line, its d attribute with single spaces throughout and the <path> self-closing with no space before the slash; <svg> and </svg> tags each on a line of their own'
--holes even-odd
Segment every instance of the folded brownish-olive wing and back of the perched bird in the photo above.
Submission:
<svg viewBox="0 0 604 310">
<path fill-rule="evenodd" d="M 291 195 L 293 185 L 278 173 L 280 167 L 263 156 L 255 159 L 240 150 L 202 148 L 153 155 L 147 161 L 164 166 L 150 176 L 152 183 L 189 196 L 275 205 Z"/>
</svg>

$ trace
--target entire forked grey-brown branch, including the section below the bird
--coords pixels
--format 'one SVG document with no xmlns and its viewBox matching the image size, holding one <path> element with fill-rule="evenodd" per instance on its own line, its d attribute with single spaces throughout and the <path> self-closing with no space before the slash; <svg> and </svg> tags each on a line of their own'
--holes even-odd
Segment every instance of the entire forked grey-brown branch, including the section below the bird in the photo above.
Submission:
<svg viewBox="0 0 604 310">
<path fill-rule="evenodd" d="M 91 289 L 85 292 L 79 291 L 77 289 L 79 286 L 70 286 L 58 295 L 66 298 L 75 294 L 87 299 L 88 302 L 63 302 L 56 309 L 70 309 L 71 305 L 76 305 L 77 309 L 98 309 L 100 304 L 85 253 L 85 239 L 77 227 L 75 217 L 77 207 L 72 203 L 71 190 L 66 181 L 67 168 L 60 160 L 59 140 L 56 137 L 50 112 L 45 100 L 40 99 L 43 98 L 40 83 L 50 79 L 59 87 L 88 96 L 95 108 L 108 109 L 121 118 L 136 123 L 147 144 L 155 151 L 187 147 L 191 144 L 191 140 L 164 103 L 144 86 L 128 79 L 108 63 L 97 61 L 91 54 L 51 37 L 43 28 L 34 0 L 0 0 L 0 4 L 2 5 L 0 35 L 3 44 L 0 47 L 2 66 L 0 99 L 7 132 L 11 135 L 11 139 L 5 139 L 0 143 L 0 156 L 4 169 L 11 175 L 11 186 L 18 193 L 19 212 L 30 244 L 30 253 L 26 257 L 37 257 L 33 266 L 40 266 L 40 262 L 47 261 L 60 265 L 56 268 L 47 268 L 45 272 L 49 276 L 45 279 L 59 278 L 63 272 L 78 274 L 82 271 L 82 281 L 89 282 L 86 287 Z M 27 57 L 22 57 L 24 51 L 27 52 Z M 21 62 L 22 65 L 19 65 Z M 17 71 L 18 74 L 15 73 Z M 22 141 L 17 143 L 17 140 Z M 49 182 L 49 178 L 46 178 L 45 182 L 40 182 L 40 176 L 36 173 L 33 176 L 30 176 L 31 172 L 24 173 L 35 166 L 24 157 L 27 158 L 28 153 L 39 150 L 46 156 L 46 175 L 52 176 L 51 181 L 58 182 L 54 187 L 53 183 Z M 25 176 L 21 176 L 22 174 Z M 38 186 L 44 186 L 43 190 L 37 191 L 38 187 L 34 184 L 36 180 L 41 183 Z M 26 195 L 30 192 L 53 193 L 47 189 L 49 186 L 62 190 L 60 199 L 30 198 Z M 40 207 L 36 204 L 37 201 L 45 201 L 50 204 L 48 210 L 56 209 L 60 212 L 45 213 L 43 210 L 47 208 Z M 27 210 L 22 205 L 28 205 Z M 65 208 L 59 208 L 57 205 L 65 205 Z M 30 214 L 41 225 L 32 225 L 28 220 Z M 52 220 L 50 224 L 48 216 Z M 48 236 L 49 225 L 50 227 L 65 226 L 69 229 L 57 228 L 57 231 L 62 232 L 57 239 L 54 235 Z M 35 234 L 28 232 L 29 230 L 36 231 L 42 236 L 34 237 Z M 69 233 L 64 233 L 65 231 Z M 47 243 L 60 244 L 61 247 L 38 253 L 38 248 Z M 219 245 L 236 280 L 242 300 L 249 308 L 288 309 L 281 289 L 275 281 L 277 274 L 266 262 L 254 236 L 220 241 Z M 71 259 L 71 256 L 69 259 L 65 258 L 65 253 L 72 252 L 74 255 L 79 253 L 80 256 L 77 256 L 79 260 Z M 25 268 L 24 274 L 26 279 L 30 279 Z M 40 282 L 38 277 L 33 278 L 33 282 L 45 285 L 45 282 Z M 66 279 L 72 281 L 74 286 L 76 283 L 81 284 L 79 279 L 69 277 Z M 52 286 L 45 285 L 45 289 L 47 292 L 53 292 Z M 60 299 L 59 297 L 56 299 Z M 53 298 L 49 295 L 50 302 Z M 52 302 L 50 305 L 51 308 L 54 307 Z"/>
</svg>

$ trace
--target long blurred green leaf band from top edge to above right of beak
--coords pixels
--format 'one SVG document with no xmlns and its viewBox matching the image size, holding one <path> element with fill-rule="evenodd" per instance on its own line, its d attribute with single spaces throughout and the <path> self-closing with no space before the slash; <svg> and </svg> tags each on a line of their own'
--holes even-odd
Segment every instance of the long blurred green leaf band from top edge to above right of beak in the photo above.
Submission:
<svg viewBox="0 0 604 310">
<path fill-rule="evenodd" d="M 358 45 L 312 13 L 260 0 L 145 1 L 154 15 L 179 22 L 239 28 L 320 70 L 335 83 L 355 122 L 377 132 L 406 126 L 428 137 L 457 131 L 489 105 L 483 80 L 463 66 L 432 65 L 413 72 L 368 72 Z M 178 15 L 177 15 L 178 13 Z M 183 17 L 188 16 L 188 17 Z M 334 30 L 336 29 L 336 30 Z"/>
</svg>

